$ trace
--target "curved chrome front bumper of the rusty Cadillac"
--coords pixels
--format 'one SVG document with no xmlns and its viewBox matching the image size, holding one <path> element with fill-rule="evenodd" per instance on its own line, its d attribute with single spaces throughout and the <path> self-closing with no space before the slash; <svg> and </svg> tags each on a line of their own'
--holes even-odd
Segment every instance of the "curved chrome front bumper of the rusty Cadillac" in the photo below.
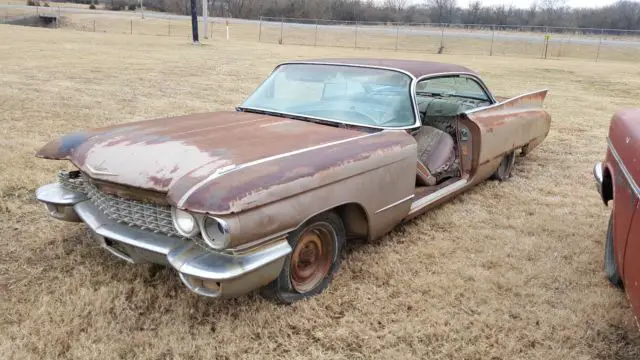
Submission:
<svg viewBox="0 0 640 360">
<path fill-rule="evenodd" d="M 60 184 L 36 191 L 49 214 L 59 220 L 84 222 L 101 247 L 130 263 L 169 265 L 192 291 L 211 297 L 235 297 L 275 279 L 291 252 L 286 239 L 242 254 L 215 252 L 194 242 L 155 234 L 107 218 L 87 197 Z"/>
</svg>

